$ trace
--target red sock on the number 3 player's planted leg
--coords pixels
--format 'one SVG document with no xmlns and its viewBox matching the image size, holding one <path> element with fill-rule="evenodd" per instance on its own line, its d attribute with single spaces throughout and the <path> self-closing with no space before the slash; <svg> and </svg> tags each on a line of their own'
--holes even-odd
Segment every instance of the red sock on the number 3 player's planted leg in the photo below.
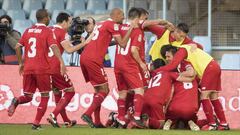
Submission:
<svg viewBox="0 0 240 135">
<path fill-rule="evenodd" d="M 45 112 L 47 110 L 48 99 L 49 99 L 49 97 L 41 97 L 41 102 L 37 108 L 37 115 L 35 117 L 33 124 L 39 125 L 43 115 L 45 114 Z"/>
</svg>

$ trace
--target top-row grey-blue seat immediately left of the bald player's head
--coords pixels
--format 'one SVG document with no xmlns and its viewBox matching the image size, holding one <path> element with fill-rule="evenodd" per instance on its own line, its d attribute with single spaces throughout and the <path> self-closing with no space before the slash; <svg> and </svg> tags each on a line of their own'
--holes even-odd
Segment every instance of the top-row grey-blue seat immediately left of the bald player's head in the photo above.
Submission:
<svg viewBox="0 0 240 135">
<path fill-rule="evenodd" d="M 87 10 L 91 12 L 106 11 L 106 3 L 103 0 L 89 0 L 87 3 Z"/>
</svg>

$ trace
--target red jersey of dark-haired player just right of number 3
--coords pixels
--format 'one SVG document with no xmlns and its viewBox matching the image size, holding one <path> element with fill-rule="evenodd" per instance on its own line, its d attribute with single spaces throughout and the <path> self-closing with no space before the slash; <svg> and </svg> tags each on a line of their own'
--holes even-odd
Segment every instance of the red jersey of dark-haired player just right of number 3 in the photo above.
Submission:
<svg viewBox="0 0 240 135">
<path fill-rule="evenodd" d="M 66 41 L 66 40 L 69 40 L 70 36 L 59 25 L 54 25 L 54 26 L 51 26 L 49 28 L 53 31 L 54 35 L 56 36 L 57 46 L 60 50 L 60 53 L 63 54 L 64 48 L 62 47 L 61 43 Z M 51 49 L 50 49 L 50 51 L 51 51 Z M 54 74 L 55 73 L 60 73 L 60 61 L 53 54 L 52 51 L 49 53 L 48 58 L 49 58 L 49 63 L 51 65 L 51 73 L 54 73 Z"/>
</svg>

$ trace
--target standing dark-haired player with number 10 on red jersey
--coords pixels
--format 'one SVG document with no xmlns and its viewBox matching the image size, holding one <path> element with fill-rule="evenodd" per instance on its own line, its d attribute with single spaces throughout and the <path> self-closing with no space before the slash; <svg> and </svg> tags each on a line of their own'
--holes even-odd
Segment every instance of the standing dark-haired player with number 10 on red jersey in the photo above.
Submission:
<svg viewBox="0 0 240 135">
<path fill-rule="evenodd" d="M 128 12 L 128 22 L 120 25 L 120 34 L 124 36 L 130 28 L 131 21 L 140 17 L 140 12 L 137 8 L 131 8 Z M 140 28 L 135 28 L 125 48 L 117 46 L 115 56 L 114 72 L 116 76 L 119 99 L 118 104 L 118 117 L 117 120 L 121 126 L 126 125 L 126 97 L 128 91 L 134 92 L 134 120 L 133 123 L 143 128 L 144 125 L 140 121 L 140 115 L 143 106 L 143 80 L 141 71 L 147 71 L 145 62 L 140 57 L 142 49 L 143 33 Z M 131 102 L 131 101 L 130 101 Z"/>
</svg>

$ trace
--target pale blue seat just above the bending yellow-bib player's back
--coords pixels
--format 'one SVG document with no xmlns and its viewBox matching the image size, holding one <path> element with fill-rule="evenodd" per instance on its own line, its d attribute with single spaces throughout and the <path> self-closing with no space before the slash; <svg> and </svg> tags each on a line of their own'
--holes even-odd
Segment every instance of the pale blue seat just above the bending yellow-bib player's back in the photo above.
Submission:
<svg viewBox="0 0 240 135">
<path fill-rule="evenodd" d="M 201 44 L 203 46 L 203 50 L 208 54 L 212 52 L 212 43 L 211 39 L 208 36 L 195 36 L 193 41 Z"/>
</svg>

